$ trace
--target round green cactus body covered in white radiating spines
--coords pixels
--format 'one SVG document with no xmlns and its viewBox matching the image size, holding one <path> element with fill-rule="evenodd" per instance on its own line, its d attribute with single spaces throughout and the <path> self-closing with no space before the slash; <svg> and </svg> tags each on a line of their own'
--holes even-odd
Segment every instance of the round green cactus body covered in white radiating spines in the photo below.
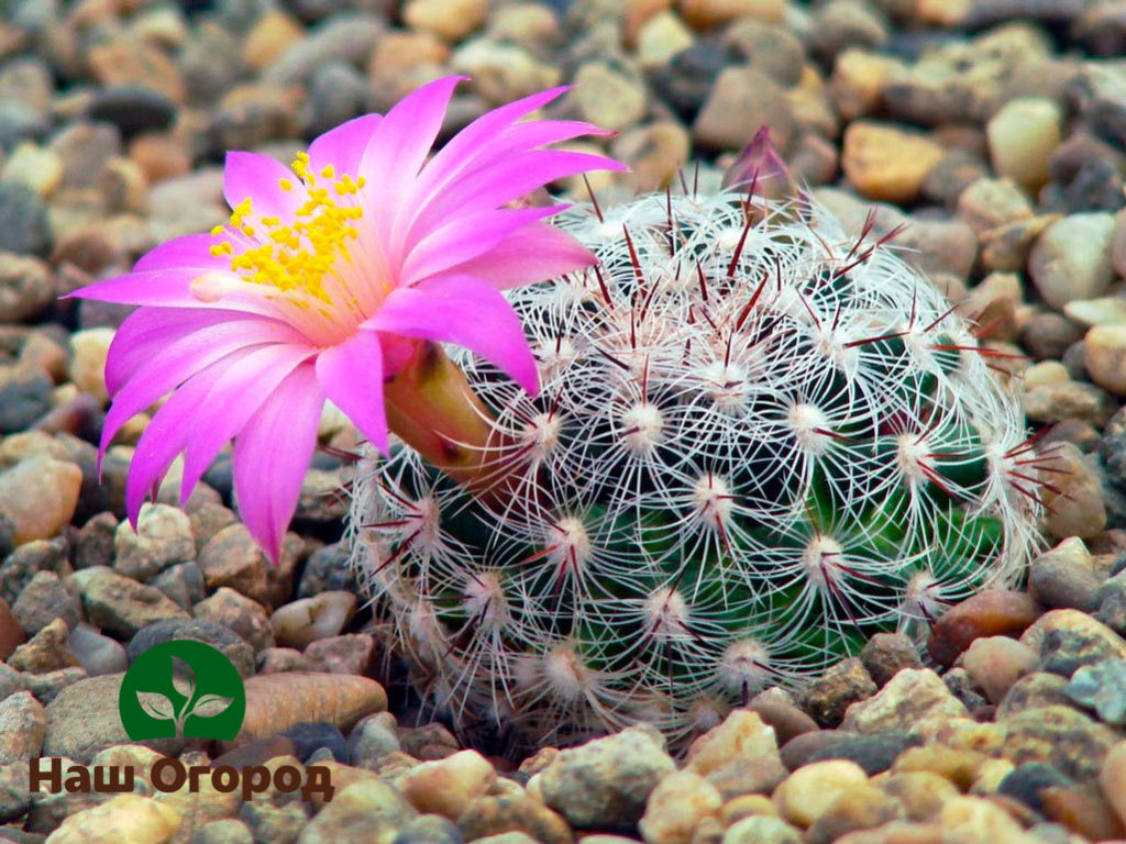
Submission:
<svg viewBox="0 0 1126 844">
<path fill-rule="evenodd" d="M 354 484 L 357 571 L 455 722 L 685 738 L 1020 578 L 1049 457 L 886 239 L 733 189 L 561 225 L 600 264 L 509 294 L 538 397 L 455 359 L 488 493 L 405 447 Z"/>
</svg>

